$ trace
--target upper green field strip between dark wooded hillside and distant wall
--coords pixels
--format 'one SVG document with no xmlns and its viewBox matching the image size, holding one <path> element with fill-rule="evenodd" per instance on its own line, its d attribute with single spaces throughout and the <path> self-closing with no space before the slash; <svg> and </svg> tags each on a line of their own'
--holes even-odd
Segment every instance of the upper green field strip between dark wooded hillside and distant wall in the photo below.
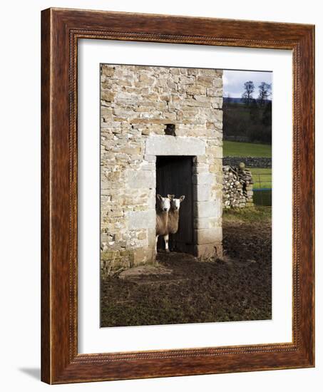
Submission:
<svg viewBox="0 0 323 392">
<path fill-rule="evenodd" d="M 272 146 L 268 144 L 242 143 L 223 140 L 223 156 L 272 158 Z"/>
</svg>

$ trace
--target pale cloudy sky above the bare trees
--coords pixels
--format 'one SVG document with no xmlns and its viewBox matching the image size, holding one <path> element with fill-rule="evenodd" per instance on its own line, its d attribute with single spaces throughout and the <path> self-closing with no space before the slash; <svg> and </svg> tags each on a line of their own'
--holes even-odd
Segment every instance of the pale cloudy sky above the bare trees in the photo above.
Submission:
<svg viewBox="0 0 323 392">
<path fill-rule="evenodd" d="M 258 86 L 261 82 L 272 84 L 272 72 L 264 71 L 223 71 L 223 95 L 231 98 L 241 98 L 244 92 L 244 84 L 253 81 L 255 92 L 253 98 L 258 96 Z"/>
</svg>

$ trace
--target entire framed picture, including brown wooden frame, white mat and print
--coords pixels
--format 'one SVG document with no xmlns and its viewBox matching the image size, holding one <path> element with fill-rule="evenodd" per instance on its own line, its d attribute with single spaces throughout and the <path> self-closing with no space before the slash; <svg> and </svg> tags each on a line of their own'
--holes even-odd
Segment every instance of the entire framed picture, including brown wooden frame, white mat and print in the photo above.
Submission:
<svg viewBox="0 0 323 392">
<path fill-rule="evenodd" d="M 313 367 L 314 26 L 55 8 L 41 36 L 42 381 Z"/>
</svg>

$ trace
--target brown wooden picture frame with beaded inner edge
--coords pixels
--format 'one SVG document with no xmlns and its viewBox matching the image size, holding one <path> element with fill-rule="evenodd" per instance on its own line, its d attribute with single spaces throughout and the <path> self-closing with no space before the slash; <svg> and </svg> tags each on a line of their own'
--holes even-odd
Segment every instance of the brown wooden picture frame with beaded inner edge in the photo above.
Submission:
<svg viewBox="0 0 323 392">
<path fill-rule="evenodd" d="M 314 26 L 106 11 L 41 15 L 41 379 L 73 383 L 314 366 Z M 78 354 L 78 39 L 292 50 L 292 343 Z"/>
</svg>

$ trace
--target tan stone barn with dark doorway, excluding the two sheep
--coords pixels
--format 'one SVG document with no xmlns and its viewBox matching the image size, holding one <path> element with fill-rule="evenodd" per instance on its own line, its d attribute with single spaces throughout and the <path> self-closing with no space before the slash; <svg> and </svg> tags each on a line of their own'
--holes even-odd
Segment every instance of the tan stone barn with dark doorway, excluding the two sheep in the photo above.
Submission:
<svg viewBox="0 0 323 392">
<path fill-rule="evenodd" d="M 185 195 L 177 250 L 222 254 L 222 71 L 101 65 L 101 271 L 155 261 L 155 202 Z"/>
</svg>

